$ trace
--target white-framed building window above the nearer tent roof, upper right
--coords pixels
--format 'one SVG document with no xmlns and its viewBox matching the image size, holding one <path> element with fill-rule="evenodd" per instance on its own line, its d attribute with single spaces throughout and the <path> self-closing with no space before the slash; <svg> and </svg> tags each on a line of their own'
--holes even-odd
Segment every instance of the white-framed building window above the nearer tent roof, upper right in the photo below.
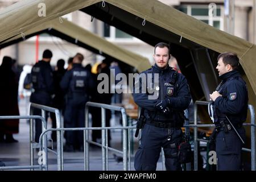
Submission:
<svg viewBox="0 0 256 182">
<path fill-rule="evenodd" d="M 209 16 L 208 5 L 181 5 L 179 10 L 185 14 L 193 16 L 204 23 L 220 30 L 224 30 L 224 8 L 217 5 L 216 16 Z"/>
</svg>

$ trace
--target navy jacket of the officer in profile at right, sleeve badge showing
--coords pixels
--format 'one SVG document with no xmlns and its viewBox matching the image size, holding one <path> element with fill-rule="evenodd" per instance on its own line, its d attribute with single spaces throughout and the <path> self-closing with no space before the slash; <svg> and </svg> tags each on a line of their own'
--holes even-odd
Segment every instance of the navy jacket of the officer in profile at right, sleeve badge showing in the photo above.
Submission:
<svg viewBox="0 0 256 182">
<path fill-rule="evenodd" d="M 246 82 L 236 70 L 225 73 L 220 78 L 222 81 L 216 90 L 222 96 L 213 102 L 214 122 L 224 121 L 228 117 L 234 126 L 241 125 L 247 117 Z"/>
</svg>

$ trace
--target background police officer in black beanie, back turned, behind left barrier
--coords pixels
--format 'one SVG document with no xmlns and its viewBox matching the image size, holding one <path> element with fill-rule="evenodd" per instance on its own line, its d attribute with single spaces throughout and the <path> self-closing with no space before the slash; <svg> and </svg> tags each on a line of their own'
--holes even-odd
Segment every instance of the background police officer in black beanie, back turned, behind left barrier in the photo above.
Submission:
<svg viewBox="0 0 256 182">
<path fill-rule="evenodd" d="M 51 94 L 54 92 L 52 68 L 50 65 L 51 58 L 52 52 L 46 49 L 43 52 L 43 59 L 32 67 L 32 93 L 30 102 L 51 106 Z M 41 114 L 42 111 L 40 109 L 34 109 L 34 115 Z M 42 133 L 42 122 L 40 119 L 36 119 L 35 130 L 35 142 L 39 142 L 39 137 Z"/>
</svg>

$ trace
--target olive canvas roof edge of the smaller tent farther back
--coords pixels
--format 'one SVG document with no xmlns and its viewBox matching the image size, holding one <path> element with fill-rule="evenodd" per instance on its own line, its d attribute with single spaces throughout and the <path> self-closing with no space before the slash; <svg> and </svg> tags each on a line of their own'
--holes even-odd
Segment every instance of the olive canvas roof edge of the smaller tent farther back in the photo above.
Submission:
<svg viewBox="0 0 256 182">
<path fill-rule="evenodd" d="M 99 53 L 103 56 L 110 56 L 114 59 L 120 60 L 133 66 L 139 72 L 151 67 L 150 62 L 145 57 L 115 46 L 107 40 L 100 38 L 92 32 L 79 27 L 76 24 L 69 22 L 68 20 L 62 19 L 61 22 L 62 23 L 60 23 L 59 18 L 53 19 L 51 21 L 39 24 L 34 28 L 31 28 L 23 34 L 26 37 L 30 37 L 38 34 L 39 32 L 48 32 L 49 34 L 59 36 L 60 38 L 68 40 L 69 42 L 77 44 L 78 46 L 85 47 L 95 53 Z M 2 42 L 0 44 L 0 48 L 19 42 L 21 40 L 22 35 L 16 35 L 11 39 L 7 39 L 6 41 Z"/>
</svg>

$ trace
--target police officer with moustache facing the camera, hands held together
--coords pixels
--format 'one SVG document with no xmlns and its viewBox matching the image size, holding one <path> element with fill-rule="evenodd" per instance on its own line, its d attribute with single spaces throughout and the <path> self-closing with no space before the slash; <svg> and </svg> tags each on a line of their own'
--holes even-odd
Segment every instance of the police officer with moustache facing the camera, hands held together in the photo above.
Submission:
<svg viewBox="0 0 256 182">
<path fill-rule="evenodd" d="M 141 114 L 146 118 L 146 124 L 142 129 L 141 144 L 135 154 L 134 167 L 136 170 L 155 170 L 163 147 L 167 170 L 177 171 L 181 170 L 177 152 L 183 137 L 181 127 L 184 110 L 191 101 L 191 94 L 185 77 L 168 65 L 170 46 L 158 43 L 154 53 L 153 67 L 135 79 L 134 101 L 142 107 Z M 147 81 L 140 79 L 143 74 L 147 75 Z M 156 75 L 159 76 L 159 80 L 146 85 L 147 88 L 152 88 L 154 94 L 157 93 L 156 98 L 149 97 L 151 91 L 142 91 L 142 84 L 151 80 L 148 75 L 152 75 L 152 81 Z"/>
</svg>

